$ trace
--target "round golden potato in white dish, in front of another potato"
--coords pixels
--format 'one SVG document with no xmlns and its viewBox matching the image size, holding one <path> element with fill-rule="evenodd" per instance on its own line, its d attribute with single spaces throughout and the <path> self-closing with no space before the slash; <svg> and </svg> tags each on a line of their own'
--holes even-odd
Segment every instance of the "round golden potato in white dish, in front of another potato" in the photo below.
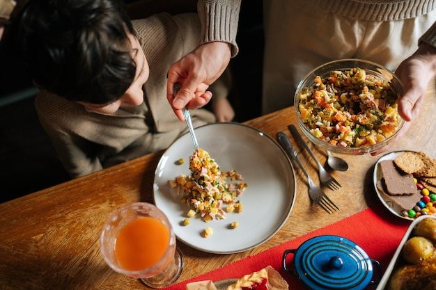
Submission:
<svg viewBox="0 0 436 290">
<path fill-rule="evenodd" d="M 423 236 L 414 236 L 403 246 L 403 258 L 412 264 L 418 264 L 433 255 L 435 247 L 432 241 Z"/>
</svg>

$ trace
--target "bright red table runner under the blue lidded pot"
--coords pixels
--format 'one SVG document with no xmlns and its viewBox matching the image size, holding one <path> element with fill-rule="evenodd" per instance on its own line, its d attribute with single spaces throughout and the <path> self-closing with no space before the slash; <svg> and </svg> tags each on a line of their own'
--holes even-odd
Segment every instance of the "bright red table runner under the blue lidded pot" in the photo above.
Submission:
<svg viewBox="0 0 436 290">
<path fill-rule="evenodd" d="M 410 223 L 409 220 L 403 220 L 392 215 L 387 209 L 384 209 L 382 204 L 376 204 L 332 225 L 322 227 L 256 255 L 240 259 L 209 273 L 178 282 L 170 287 L 166 287 L 165 290 L 182 290 L 185 289 L 185 285 L 189 282 L 239 278 L 243 275 L 259 271 L 268 265 L 279 271 L 288 282 L 289 289 L 304 289 L 304 285 L 295 275 L 286 273 L 281 269 L 283 252 L 288 249 L 296 249 L 304 241 L 324 234 L 343 236 L 357 243 L 371 259 L 380 262 L 382 273 L 384 273 Z M 292 258 L 292 255 L 290 257 Z M 189 267 L 186 264 L 185 266 Z"/>
</svg>

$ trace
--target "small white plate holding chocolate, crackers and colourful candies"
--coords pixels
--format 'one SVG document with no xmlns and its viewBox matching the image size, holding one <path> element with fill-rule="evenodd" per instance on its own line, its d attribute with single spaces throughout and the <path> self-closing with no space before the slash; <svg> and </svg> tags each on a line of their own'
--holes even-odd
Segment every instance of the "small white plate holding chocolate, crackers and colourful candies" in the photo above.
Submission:
<svg viewBox="0 0 436 290">
<path fill-rule="evenodd" d="M 398 158 L 400 157 L 400 158 Z M 402 166 L 398 166 L 398 164 Z M 401 167 L 401 168 L 400 168 Z M 416 188 L 414 177 L 429 189 L 435 192 L 431 184 L 424 184 L 426 180 L 435 179 L 436 160 L 423 152 L 396 151 L 385 154 L 375 163 L 373 182 L 378 198 L 395 216 L 406 220 L 415 220 L 416 217 L 407 215 L 423 195 Z"/>
</svg>

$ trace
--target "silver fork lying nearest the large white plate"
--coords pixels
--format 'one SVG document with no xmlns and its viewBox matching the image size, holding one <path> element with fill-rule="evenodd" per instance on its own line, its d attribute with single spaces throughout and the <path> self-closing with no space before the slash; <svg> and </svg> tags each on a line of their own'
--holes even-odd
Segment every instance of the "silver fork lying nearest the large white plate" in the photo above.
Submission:
<svg viewBox="0 0 436 290">
<path fill-rule="evenodd" d="M 329 197 L 322 191 L 322 189 L 317 186 L 315 183 L 313 183 L 313 180 L 309 176 L 309 174 L 304 169 L 304 166 L 299 161 L 297 152 L 294 150 L 293 145 L 290 144 L 290 140 L 286 134 L 283 132 L 277 133 L 277 139 L 279 140 L 279 143 L 283 146 L 283 148 L 288 152 L 288 154 L 292 157 L 292 159 L 298 164 L 299 168 L 304 172 L 304 175 L 306 175 L 307 182 L 309 183 L 309 197 L 313 202 L 318 204 L 322 209 L 327 211 L 329 214 L 333 214 L 334 211 L 338 211 L 339 208 L 332 202 L 332 200 L 329 199 Z"/>
</svg>

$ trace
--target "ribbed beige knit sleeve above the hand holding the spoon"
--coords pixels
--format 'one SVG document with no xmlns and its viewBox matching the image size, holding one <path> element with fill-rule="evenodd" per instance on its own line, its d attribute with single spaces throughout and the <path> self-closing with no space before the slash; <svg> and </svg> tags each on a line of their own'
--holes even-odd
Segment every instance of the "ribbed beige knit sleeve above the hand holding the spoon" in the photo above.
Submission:
<svg viewBox="0 0 436 290">
<path fill-rule="evenodd" d="M 236 33 L 241 0 L 198 0 L 197 10 L 201 21 L 201 37 L 203 43 L 222 41 L 232 45 L 232 57 L 238 54 Z"/>
</svg>

